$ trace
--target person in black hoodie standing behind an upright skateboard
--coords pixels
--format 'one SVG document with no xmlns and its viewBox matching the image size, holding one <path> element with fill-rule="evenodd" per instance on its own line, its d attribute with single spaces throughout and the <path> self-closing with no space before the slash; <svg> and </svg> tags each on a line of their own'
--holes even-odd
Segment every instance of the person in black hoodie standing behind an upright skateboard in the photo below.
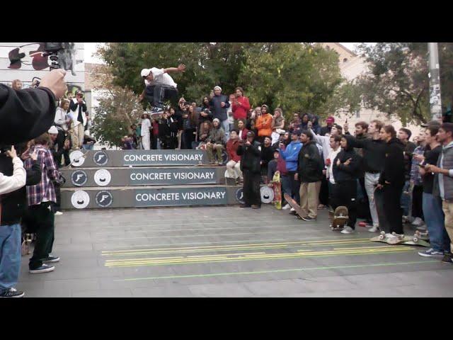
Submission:
<svg viewBox="0 0 453 340">
<path fill-rule="evenodd" d="M 333 159 L 332 208 L 344 205 L 348 208 L 348 225 L 341 231 L 350 234 L 355 230 L 357 222 L 357 174 L 360 171 L 360 157 L 354 148 L 348 145 L 348 140 L 341 137 L 341 151 Z"/>
</svg>

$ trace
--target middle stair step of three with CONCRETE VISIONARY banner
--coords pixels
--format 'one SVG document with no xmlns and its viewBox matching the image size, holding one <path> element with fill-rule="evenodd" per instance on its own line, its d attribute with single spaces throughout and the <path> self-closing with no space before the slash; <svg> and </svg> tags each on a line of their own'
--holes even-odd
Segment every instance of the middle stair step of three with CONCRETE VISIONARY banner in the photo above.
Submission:
<svg viewBox="0 0 453 340">
<path fill-rule="evenodd" d="M 62 188 L 224 184 L 225 166 L 147 166 L 60 169 Z"/>
</svg>

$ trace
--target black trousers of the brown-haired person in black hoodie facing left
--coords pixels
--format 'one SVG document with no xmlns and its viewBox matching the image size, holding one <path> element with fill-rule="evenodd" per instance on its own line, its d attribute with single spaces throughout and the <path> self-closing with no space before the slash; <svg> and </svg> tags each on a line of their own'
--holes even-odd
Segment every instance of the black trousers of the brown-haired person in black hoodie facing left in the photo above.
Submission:
<svg viewBox="0 0 453 340">
<path fill-rule="evenodd" d="M 379 227 L 386 233 L 403 234 L 403 209 L 401 208 L 401 193 L 403 185 L 384 185 L 374 191 Z"/>
</svg>

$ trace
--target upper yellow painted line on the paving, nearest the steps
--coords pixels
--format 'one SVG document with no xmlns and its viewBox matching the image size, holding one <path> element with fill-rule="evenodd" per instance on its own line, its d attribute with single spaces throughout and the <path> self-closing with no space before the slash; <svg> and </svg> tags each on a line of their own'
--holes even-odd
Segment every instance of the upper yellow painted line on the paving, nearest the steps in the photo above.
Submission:
<svg viewBox="0 0 453 340">
<path fill-rule="evenodd" d="M 369 241 L 369 238 L 366 239 L 339 239 L 331 241 L 297 241 L 297 242 L 277 242 L 277 243 L 255 243 L 255 244 L 230 244 L 225 246 L 187 246 L 187 247 L 178 247 L 178 248 L 149 248 L 149 249 L 134 249 L 134 250 L 116 250 L 116 251 L 102 251 L 102 255 L 106 256 L 108 254 L 127 254 L 135 253 L 138 251 L 176 251 L 176 250 L 200 250 L 200 249 L 230 249 L 231 247 L 244 247 L 244 246 L 287 246 L 287 244 L 337 244 L 345 242 L 359 242 L 359 241 Z"/>
</svg>

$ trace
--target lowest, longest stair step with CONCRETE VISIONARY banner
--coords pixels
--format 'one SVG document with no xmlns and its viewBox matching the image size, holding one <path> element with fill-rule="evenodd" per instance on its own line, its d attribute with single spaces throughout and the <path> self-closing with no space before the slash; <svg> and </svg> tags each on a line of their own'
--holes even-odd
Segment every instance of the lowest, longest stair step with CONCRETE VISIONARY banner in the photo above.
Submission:
<svg viewBox="0 0 453 340">
<path fill-rule="evenodd" d="M 63 209 L 232 205 L 242 203 L 242 186 L 62 188 L 61 196 Z"/>
</svg>

